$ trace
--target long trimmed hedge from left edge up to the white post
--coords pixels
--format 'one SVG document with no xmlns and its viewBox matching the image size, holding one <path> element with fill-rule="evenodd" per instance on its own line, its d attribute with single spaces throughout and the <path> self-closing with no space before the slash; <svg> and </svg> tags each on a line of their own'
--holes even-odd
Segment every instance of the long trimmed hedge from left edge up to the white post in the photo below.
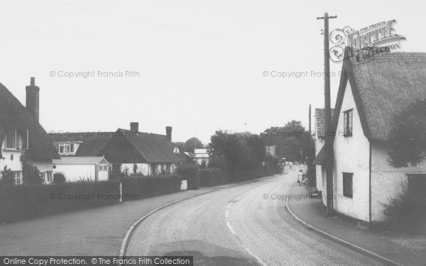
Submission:
<svg viewBox="0 0 426 266">
<path fill-rule="evenodd" d="M 0 223 L 105 206 L 118 201 L 119 182 L 115 181 L 1 186 Z"/>
</svg>

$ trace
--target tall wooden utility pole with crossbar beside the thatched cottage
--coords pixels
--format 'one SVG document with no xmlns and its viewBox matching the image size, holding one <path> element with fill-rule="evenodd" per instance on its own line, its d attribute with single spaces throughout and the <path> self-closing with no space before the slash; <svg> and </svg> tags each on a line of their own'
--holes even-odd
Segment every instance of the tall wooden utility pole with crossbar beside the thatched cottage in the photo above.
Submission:
<svg viewBox="0 0 426 266">
<path fill-rule="evenodd" d="M 329 18 L 324 13 L 324 107 L 325 107 L 325 172 L 327 177 L 327 208 L 326 215 L 333 215 L 333 147 L 332 147 L 332 109 L 330 100 L 330 58 L 329 58 Z"/>
</svg>

